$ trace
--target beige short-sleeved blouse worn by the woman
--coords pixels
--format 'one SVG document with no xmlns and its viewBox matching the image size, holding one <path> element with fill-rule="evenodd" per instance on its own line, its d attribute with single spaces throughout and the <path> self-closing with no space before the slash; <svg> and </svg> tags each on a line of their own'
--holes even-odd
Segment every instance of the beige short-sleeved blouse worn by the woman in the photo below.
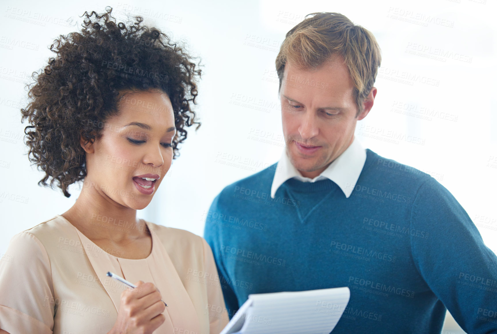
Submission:
<svg viewBox="0 0 497 334">
<path fill-rule="evenodd" d="M 111 271 L 160 290 L 166 321 L 154 334 L 221 332 L 229 318 L 209 245 L 190 232 L 146 224 L 152 251 L 142 259 L 102 250 L 61 215 L 15 235 L 0 259 L 0 329 L 107 333 L 125 289 L 106 276 Z"/>
</svg>

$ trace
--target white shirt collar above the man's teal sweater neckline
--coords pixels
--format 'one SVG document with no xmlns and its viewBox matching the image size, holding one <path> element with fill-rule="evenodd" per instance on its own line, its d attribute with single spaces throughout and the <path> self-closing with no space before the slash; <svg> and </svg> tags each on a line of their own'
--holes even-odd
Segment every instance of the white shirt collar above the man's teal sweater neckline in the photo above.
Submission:
<svg viewBox="0 0 497 334">
<path fill-rule="evenodd" d="M 329 178 L 335 182 L 345 194 L 349 197 L 354 190 L 355 183 L 366 162 L 366 150 L 361 143 L 355 138 L 349 147 L 343 151 L 321 174 L 315 178 L 305 177 L 295 168 L 286 155 L 286 148 L 283 149 L 281 159 L 276 165 L 273 183 L 271 185 L 271 197 L 274 198 L 276 190 L 288 179 L 294 177 L 303 182 L 316 182 Z M 278 170 L 280 170 L 278 172 Z"/>
</svg>

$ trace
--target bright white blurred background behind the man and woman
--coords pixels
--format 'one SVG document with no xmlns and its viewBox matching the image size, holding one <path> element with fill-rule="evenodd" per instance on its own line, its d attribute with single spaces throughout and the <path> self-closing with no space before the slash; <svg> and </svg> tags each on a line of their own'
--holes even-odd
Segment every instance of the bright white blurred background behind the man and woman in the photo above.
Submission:
<svg viewBox="0 0 497 334">
<path fill-rule="evenodd" d="M 14 234 L 65 212 L 78 197 L 77 187 L 66 198 L 37 185 L 43 174 L 28 162 L 22 140 L 27 123 L 20 123 L 19 108 L 25 106 L 29 74 L 51 56 L 47 46 L 79 29 L 85 10 L 101 12 L 104 5 L 114 7 L 118 18 L 124 10 L 142 15 L 173 40 L 186 42 L 204 64 L 196 108 L 203 124 L 189 133 L 141 218 L 202 235 L 205 212 L 224 186 L 279 159 L 284 145 L 274 70 L 279 46 L 306 14 L 336 11 L 369 29 L 382 49 L 375 105 L 358 122 L 356 136 L 376 153 L 437 178 L 497 251 L 495 1 L 47 3 L 0 5 L 0 255 Z M 70 17 L 73 25 L 66 22 Z M 263 110 L 253 103 L 260 100 Z M 411 113 L 403 113 L 408 105 Z M 386 142 L 382 134 L 388 131 L 419 138 L 423 145 Z M 229 158 L 220 160 L 224 154 Z M 247 159 L 250 165 L 243 163 Z"/>
</svg>

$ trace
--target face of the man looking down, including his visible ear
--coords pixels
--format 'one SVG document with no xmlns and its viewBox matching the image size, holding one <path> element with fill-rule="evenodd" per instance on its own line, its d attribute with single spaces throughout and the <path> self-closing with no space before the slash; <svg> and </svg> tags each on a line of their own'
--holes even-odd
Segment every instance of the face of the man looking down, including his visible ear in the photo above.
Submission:
<svg viewBox="0 0 497 334">
<path fill-rule="evenodd" d="M 352 143 L 357 114 L 353 83 L 341 56 L 316 70 L 285 65 L 280 89 L 281 119 L 287 155 L 303 176 L 316 177 Z M 376 88 L 370 96 L 374 99 Z M 368 97 L 370 97 L 368 96 Z"/>
</svg>

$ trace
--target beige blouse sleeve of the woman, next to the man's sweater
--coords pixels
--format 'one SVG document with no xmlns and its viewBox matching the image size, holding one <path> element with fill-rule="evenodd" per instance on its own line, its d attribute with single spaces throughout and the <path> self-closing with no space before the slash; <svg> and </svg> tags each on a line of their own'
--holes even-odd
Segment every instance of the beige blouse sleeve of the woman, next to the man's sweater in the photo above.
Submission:
<svg viewBox="0 0 497 334">
<path fill-rule="evenodd" d="M 214 262 L 214 255 L 210 246 L 204 238 L 202 238 L 204 248 L 204 265 L 206 274 L 218 277 L 213 280 L 218 284 L 207 285 L 207 304 L 209 306 L 209 324 L 210 334 L 219 334 L 226 325 L 228 325 L 228 312 L 226 310 L 223 298 L 223 291 L 219 283 L 218 271 Z"/>
</svg>

